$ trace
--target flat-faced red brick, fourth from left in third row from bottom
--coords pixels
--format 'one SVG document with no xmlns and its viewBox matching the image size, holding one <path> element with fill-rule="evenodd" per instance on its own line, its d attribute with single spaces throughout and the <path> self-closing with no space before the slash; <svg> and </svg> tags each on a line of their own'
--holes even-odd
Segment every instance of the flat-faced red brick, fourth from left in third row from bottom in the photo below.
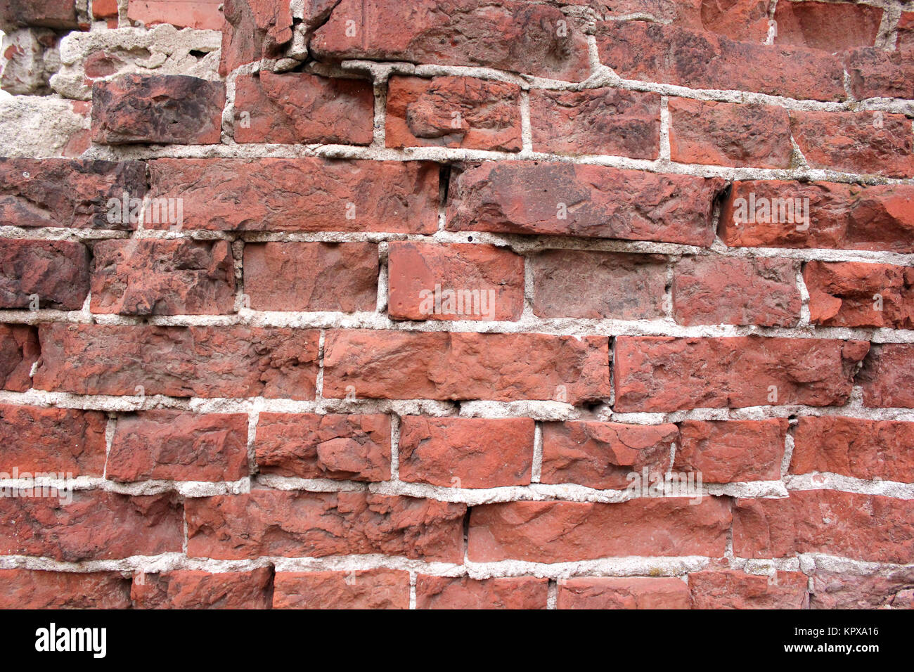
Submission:
<svg viewBox="0 0 914 672">
<path fill-rule="evenodd" d="M 399 478 L 450 487 L 529 485 L 534 425 L 529 418 L 404 416 Z"/>
</svg>

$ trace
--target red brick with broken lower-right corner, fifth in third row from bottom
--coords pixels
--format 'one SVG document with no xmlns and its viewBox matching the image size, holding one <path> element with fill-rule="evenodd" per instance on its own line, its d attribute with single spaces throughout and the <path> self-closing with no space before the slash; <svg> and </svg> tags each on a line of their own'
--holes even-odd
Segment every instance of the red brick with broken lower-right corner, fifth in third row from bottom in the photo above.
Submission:
<svg viewBox="0 0 914 672">
<path fill-rule="evenodd" d="M 675 424 L 547 422 L 543 425 L 542 483 L 574 483 L 600 490 L 624 489 L 643 469 L 665 474 Z"/>
</svg>

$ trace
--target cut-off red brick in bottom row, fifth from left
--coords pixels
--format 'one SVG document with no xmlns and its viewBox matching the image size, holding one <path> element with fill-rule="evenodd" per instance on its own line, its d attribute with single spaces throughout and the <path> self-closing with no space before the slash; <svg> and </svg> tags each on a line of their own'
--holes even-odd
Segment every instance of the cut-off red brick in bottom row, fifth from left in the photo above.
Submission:
<svg viewBox="0 0 914 672">
<path fill-rule="evenodd" d="M 576 578 L 558 581 L 558 609 L 689 609 L 685 581 L 675 578 Z"/>
</svg>

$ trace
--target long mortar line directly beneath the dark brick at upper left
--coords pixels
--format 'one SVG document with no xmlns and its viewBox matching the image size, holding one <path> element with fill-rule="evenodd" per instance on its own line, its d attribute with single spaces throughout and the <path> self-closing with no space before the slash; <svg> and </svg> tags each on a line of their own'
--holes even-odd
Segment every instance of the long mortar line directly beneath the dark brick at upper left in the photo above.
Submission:
<svg viewBox="0 0 914 672">
<path fill-rule="evenodd" d="M 462 163 L 473 161 L 556 162 L 572 165 L 602 165 L 605 167 L 639 170 L 667 175 L 721 177 L 728 180 L 787 180 L 824 181 L 850 184 L 887 185 L 914 184 L 914 177 L 887 177 L 856 174 L 824 168 L 759 168 L 718 165 L 681 164 L 663 159 L 633 159 L 616 155 L 558 155 L 545 152 L 494 152 L 447 147 L 411 147 L 408 149 L 378 148 L 348 144 L 164 144 L 155 147 L 130 145 L 96 145 L 83 158 L 115 161 L 149 160 L 155 158 L 322 158 L 364 159 L 370 161 L 431 161 Z"/>
</svg>

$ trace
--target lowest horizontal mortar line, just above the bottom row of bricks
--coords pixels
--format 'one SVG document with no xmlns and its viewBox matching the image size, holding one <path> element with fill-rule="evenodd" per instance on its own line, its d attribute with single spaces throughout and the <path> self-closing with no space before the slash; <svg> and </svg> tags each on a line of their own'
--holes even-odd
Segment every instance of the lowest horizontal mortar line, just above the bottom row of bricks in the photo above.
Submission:
<svg viewBox="0 0 914 672">
<path fill-rule="evenodd" d="M 322 558 L 261 556 L 255 560 L 218 560 L 188 557 L 183 553 L 162 553 L 154 556 L 131 556 L 118 560 L 81 560 L 68 562 L 46 556 L 6 555 L 0 556 L 0 569 L 25 569 L 37 571 L 122 571 L 160 573 L 175 570 L 197 570 L 222 573 L 228 571 L 251 571 L 274 567 L 276 571 L 362 571 L 389 569 L 414 571 L 437 576 L 468 576 L 472 579 L 489 579 L 514 576 L 535 576 L 540 578 L 569 579 L 576 577 L 639 577 L 679 576 L 713 566 L 718 558 L 708 556 L 620 556 L 597 560 L 571 560 L 556 563 L 531 562 L 527 560 L 497 560 L 462 564 L 435 560 L 415 560 L 404 556 L 382 554 L 325 556 Z M 771 570 L 802 571 L 804 560 L 817 566 L 834 564 L 846 573 L 859 576 L 887 576 L 897 571 L 914 570 L 914 564 L 873 562 L 833 556 L 824 553 L 802 553 L 786 558 L 749 559 L 734 558 L 730 567 L 753 574 L 768 574 Z M 806 573 L 814 573 L 814 569 Z"/>
</svg>

